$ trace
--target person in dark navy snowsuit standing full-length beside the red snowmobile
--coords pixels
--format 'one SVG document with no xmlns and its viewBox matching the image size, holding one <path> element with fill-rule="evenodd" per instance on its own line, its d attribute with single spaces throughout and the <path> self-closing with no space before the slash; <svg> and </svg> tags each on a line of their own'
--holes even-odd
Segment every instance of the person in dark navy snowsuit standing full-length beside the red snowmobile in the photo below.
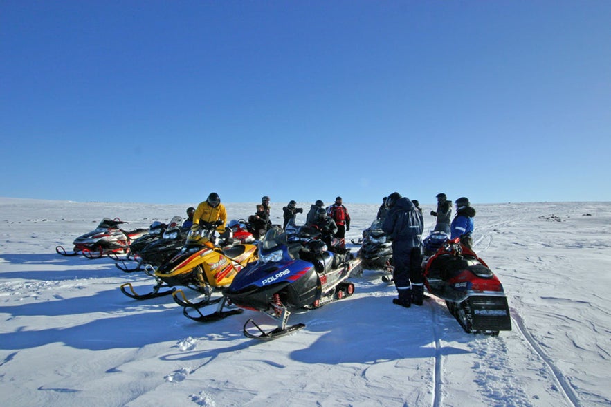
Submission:
<svg viewBox="0 0 611 407">
<path fill-rule="evenodd" d="M 392 240 L 393 278 L 399 294 L 399 298 L 392 299 L 392 302 L 402 307 L 410 307 L 412 302 L 422 305 L 422 214 L 411 200 L 398 192 L 388 196 L 386 205 L 388 214 L 382 230 Z"/>
</svg>

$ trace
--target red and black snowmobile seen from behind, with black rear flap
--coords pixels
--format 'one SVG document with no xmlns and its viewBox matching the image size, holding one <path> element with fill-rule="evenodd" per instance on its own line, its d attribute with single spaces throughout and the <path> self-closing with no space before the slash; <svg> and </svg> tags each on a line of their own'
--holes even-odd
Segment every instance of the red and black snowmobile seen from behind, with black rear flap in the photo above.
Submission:
<svg viewBox="0 0 611 407">
<path fill-rule="evenodd" d="M 446 301 L 465 332 L 498 335 L 511 330 L 507 296 L 497 276 L 460 238 L 447 240 L 424 266 L 428 292 Z"/>
</svg>

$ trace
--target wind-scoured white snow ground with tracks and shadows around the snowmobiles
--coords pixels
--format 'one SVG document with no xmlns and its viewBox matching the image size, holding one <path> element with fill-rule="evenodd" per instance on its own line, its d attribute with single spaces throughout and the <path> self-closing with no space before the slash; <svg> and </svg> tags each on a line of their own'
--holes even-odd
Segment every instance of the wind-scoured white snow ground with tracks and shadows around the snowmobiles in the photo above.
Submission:
<svg viewBox="0 0 611 407">
<path fill-rule="evenodd" d="M 241 329 L 273 328 L 264 314 L 197 323 L 169 297 L 120 292 L 148 292 L 143 273 L 55 253 L 104 217 L 136 229 L 194 204 L 0 198 L 0 406 L 611 404 L 610 202 L 473 205 L 475 251 L 511 307 L 499 337 L 466 334 L 443 301 L 397 307 L 394 286 L 365 270 L 353 296 L 294 314 L 306 328 L 262 343 Z M 230 219 L 255 211 L 226 206 Z M 347 207 L 358 238 L 378 205 Z"/>
</svg>

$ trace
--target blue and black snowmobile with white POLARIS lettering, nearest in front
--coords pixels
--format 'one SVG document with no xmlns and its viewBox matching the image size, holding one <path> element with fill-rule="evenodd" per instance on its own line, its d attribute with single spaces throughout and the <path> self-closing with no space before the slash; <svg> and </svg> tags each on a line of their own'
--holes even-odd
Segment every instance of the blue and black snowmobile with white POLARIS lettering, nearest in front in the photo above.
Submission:
<svg viewBox="0 0 611 407">
<path fill-rule="evenodd" d="M 253 319 L 243 328 L 246 337 L 264 341 L 304 328 L 302 323 L 286 325 L 291 312 L 311 310 L 352 295 L 354 284 L 347 278 L 361 267 L 361 260 L 353 258 L 349 249 L 343 254 L 327 251 L 320 236 L 318 229 L 308 226 L 296 233 L 293 225 L 287 225 L 286 231 L 273 227 L 259 242 L 259 261 L 235 276 L 214 314 L 203 315 L 197 310 L 199 316 L 191 316 L 190 307 L 183 313 L 195 321 L 208 322 L 241 312 L 225 311 L 229 304 L 264 312 L 278 321 L 275 330 L 264 332 Z M 248 328 L 254 328 L 255 333 Z"/>
</svg>

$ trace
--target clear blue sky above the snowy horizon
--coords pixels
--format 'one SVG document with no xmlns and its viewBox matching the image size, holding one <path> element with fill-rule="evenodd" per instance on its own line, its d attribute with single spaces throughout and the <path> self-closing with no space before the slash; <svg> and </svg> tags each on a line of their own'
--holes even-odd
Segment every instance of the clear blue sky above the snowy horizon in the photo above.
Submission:
<svg viewBox="0 0 611 407">
<path fill-rule="evenodd" d="M 0 1 L 0 196 L 611 200 L 611 1 Z"/>
</svg>

